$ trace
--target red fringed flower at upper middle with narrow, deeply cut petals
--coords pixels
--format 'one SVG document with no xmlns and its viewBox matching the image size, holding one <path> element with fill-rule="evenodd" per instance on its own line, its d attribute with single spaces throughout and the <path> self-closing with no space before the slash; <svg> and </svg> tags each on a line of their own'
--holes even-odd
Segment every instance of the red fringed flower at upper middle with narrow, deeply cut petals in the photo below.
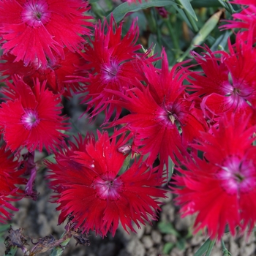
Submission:
<svg viewBox="0 0 256 256">
<path fill-rule="evenodd" d="M 104 31 L 107 33 L 104 34 Z M 84 70 L 91 69 L 91 71 L 89 78 L 80 78 L 80 80 L 86 83 L 87 94 L 83 102 L 88 105 L 87 110 L 94 108 L 91 118 L 105 110 L 105 120 L 108 121 L 115 110 L 111 103 L 106 102 L 115 97 L 105 89 L 121 91 L 124 94 L 125 88 L 132 87 L 137 79 L 140 80 L 136 56 L 139 55 L 143 61 L 154 60 L 154 58 L 146 59 L 148 53 L 136 53 L 141 46 L 136 45 L 139 28 L 135 20 L 123 38 L 121 38 L 121 32 L 122 23 L 117 26 L 113 17 L 110 19 L 110 24 L 105 20 L 102 26 L 99 21 L 95 26 L 94 40 L 86 45 L 83 56 L 89 63 L 84 66 Z M 117 108 L 116 118 L 120 113 L 121 108 Z"/>
</svg>

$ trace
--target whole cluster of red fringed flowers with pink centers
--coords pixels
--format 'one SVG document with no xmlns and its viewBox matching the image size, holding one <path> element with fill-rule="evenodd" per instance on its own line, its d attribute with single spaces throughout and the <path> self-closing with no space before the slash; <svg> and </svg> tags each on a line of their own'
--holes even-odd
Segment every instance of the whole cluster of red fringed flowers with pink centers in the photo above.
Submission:
<svg viewBox="0 0 256 256">
<path fill-rule="evenodd" d="M 233 15 L 241 21 L 225 25 L 247 29 L 238 31 L 235 44 L 229 42 L 228 53 L 192 53 L 202 72 L 193 72 L 187 61 L 169 70 L 165 50 L 162 67 L 155 67 L 150 50 L 139 52 L 136 20 L 121 37 L 122 23 L 117 26 L 112 17 L 94 25 L 83 0 L 0 0 L 0 8 L 6 83 L 0 105 L 0 218 L 10 217 L 4 209 L 13 209 L 10 195 L 22 197 L 24 173 L 33 177 L 26 187 L 31 194 L 34 165 L 26 157 L 18 161 L 26 147 L 31 155 L 43 148 L 55 154 L 56 162 L 45 164 L 59 223 L 71 217 L 84 233 L 114 235 L 119 221 L 128 232 L 134 223 L 157 219 L 170 159 L 178 170 L 170 189 L 184 215 L 197 213 L 195 231 L 206 227 L 211 238 L 221 238 L 226 225 L 233 235 L 236 227 L 252 230 L 255 4 Z M 115 127 L 112 136 L 79 135 L 67 146 L 61 97 L 73 93 L 83 95 L 91 119 L 105 112 L 105 126 Z M 129 113 L 120 118 L 123 109 Z M 124 170 L 129 154 L 134 159 Z"/>
</svg>

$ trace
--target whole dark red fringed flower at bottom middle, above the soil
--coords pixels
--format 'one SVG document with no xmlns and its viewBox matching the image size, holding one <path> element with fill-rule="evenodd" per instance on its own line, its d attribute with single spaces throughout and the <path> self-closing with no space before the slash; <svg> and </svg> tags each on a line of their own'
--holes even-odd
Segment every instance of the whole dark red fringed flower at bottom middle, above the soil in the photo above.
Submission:
<svg viewBox="0 0 256 256">
<path fill-rule="evenodd" d="M 50 187 L 59 192 L 59 223 L 71 216 L 83 232 L 95 230 L 106 236 L 110 231 L 114 236 L 119 221 L 125 230 L 134 231 L 132 222 L 140 227 L 139 222 L 156 219 L 155 211 L 160 208 L 154 197 L 165 197 L 165 192 L 156 188 L 162 184 L 156 170 L 148 170 L 139 159 L 118 176 L 127 157 L 118 148 L 127 139 L 123 135 L 110 141 L 107 132 L 98 132 L 97 142 L 88 136 L 82 143 L 84 151 L 72 156 L 69 151 L 69 157 L 57 154 L 56 164 L 48 162 L 52 170 L 48 178 L 53 179 Z"/>
</svg>

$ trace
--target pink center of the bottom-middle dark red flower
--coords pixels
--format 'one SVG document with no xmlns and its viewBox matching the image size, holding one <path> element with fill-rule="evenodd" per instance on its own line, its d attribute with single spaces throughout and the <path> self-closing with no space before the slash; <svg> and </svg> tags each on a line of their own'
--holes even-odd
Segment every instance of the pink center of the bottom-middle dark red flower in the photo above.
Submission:
<svg viewBox="0 0 256 256">
<path fill-rule="evenodd" d="M 110 178 L 109 176 L 97 177 L 93 184 L 97 197 L 102 200 L 118 200 L 123 191 L 123 182 L 120 178 Z"/>
</svg>

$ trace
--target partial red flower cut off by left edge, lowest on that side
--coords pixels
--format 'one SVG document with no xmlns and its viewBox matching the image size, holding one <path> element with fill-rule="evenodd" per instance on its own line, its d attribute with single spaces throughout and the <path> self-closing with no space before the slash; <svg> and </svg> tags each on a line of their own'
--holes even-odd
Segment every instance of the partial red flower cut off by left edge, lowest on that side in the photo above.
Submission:
<svg viewBox="0 0 256 256">
<path fill-rule="evenodd" d="M 23 191 L 15 185 L 26 184 L 24 178 L 20 176 L 24 173 L 24 169 L 19 168 L 19 163 L 14 160 L 14 156 L 10 150 L 4 151 L 5 144 L 0 147 L 0 222 L 11 219 L 7 209 L 18 211 L 10 202 L 20 200 L 23 197 Z"/>
</svg>

